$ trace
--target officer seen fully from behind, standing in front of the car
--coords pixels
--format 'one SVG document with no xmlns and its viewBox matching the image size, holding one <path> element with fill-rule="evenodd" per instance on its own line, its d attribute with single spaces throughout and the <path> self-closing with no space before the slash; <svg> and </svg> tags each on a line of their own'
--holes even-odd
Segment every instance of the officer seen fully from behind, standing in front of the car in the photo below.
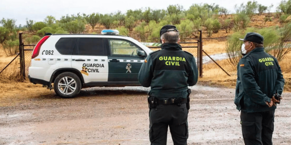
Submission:
<svg viewBox="0 0 291 145">
<path fill-rule="evenodd" d="M 138 80 L 151 87 L 148 95 L 150 142 L 164 145 L 168 126 L 175 145 L 186 145 L 188 139 L 188 86 L 198 80 L 198 69 L 193 55 L 183 51 L 178 42 L 179 31 L 166 25 L 160 30 L 161 50 L 151 52 L 139 71 Z"/>
</svg>

